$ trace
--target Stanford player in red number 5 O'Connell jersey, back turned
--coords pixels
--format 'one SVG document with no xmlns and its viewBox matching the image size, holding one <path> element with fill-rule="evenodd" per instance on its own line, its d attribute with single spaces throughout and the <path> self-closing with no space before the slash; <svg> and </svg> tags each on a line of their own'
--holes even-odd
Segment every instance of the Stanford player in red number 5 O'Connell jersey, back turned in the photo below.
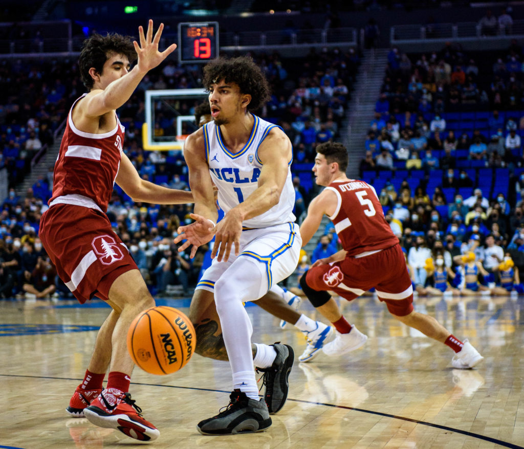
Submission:
<svg viewBox="0 0 524 449">
<path fill-rule="evenodd" d="M 367 340 L 346 321 L 328 290 L 351 301 L 374 287 L 397 320 L 455 351 L 453 367 L 472 368 L 481 362 L 483 357 L 467 340 L 457 340 L 433 317 L 413 310 L 413 288 L 398 238 L 384 218 L 375 189 L 346 177 L 346 148 L 339 143 L 325 143 L 316 151 L 313 173 L 316 183 L 326 188 L 311 201 L 308 216 L 300 226 L 302 246 L 327 215 L 343 248 L 329 258 L 317 260 L 300 279 L 308 299 L 337 331 L 335 339 L 324 345 L 324 353 L 345 354 Z"/>
</svg>

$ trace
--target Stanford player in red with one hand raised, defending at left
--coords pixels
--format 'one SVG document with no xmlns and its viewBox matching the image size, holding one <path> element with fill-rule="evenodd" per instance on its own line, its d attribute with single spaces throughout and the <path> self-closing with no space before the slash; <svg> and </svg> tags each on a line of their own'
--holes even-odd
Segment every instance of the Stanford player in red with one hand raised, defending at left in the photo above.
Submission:
<svg viewBox="0 0 524 449">
<path fill-rule="evenodd" d="M 144 279 L 105 211 L 116 182 L 134 201 L 180 204 L 191 192 L 163 188 L 140 178 L 122 151 L 124 127 L 116 109 L 133 94 L 144 75 L 175 48 L 158 51 L 163 24 L 153 36 L 139 27 L 139 41 L 120 35 L 93 35 L 84 41 L 79 66 L 88 93 L 74 102 L 54 167 L 49 209 L 40 238 L 60 278 L 81 302 L 94 295 L 113 308 L 96 337 L 84 380 L 67 408 L 105 428 L 137 440 L 154 440 L 159 431 L 139 414 L 128 389 L 134 364 L 126 347 L 129 324 L 155 305 Z M 138 56 L 137 64 L 130 62 Z M 109 369 L 106 389 L 102 381 Z M 136 410 L 135 410 L 136 409 Z"/>
</svg>

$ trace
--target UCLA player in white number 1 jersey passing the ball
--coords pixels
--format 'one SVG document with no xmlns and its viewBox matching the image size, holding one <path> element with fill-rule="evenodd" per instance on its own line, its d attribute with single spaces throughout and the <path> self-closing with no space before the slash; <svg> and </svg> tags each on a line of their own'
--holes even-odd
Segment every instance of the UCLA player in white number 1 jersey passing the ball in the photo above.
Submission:
<svg viewBox="0 0 524 449">
<path fill-rule="evenodd" d="M 256 345 L 253 359 L 253 327 L 243 302 L 262 297 L 298 263 L 291 142 L 279 127 L 250 112 L 269 97 L 267 81 L 252 59 L 211 62 L 203 83 L 213 122 L 185 141 L 195 222 L 179 228 L 175 243 L 186 239 L 179 249 L 191 246 L 194 256 L 198 246 L 215 236 L 214 260 L 195 290 L 190 315 L 198 327 L 206 310 L 216 306 L 233 391 L 227 409 L 201 421 L 198 430 L 210 435 L 258 432 L 271 425 L 269 413 L 286 401 L 294 354 L 288 345 Z M 225 214 L 219 223 L 213 183 Z M 266 393 L 260 400 L 253 363 L 265 372 Z"/>
</svg>

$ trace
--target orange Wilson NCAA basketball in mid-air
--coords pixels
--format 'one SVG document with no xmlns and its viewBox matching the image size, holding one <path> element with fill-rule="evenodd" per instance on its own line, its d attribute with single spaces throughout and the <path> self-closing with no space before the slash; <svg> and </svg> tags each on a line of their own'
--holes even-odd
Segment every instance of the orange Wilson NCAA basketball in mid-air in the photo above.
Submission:
<svg viewBox="0 0 524 449">
<path fill-rule="evenodd" d="M 189 362 L 195 344 L 189 318 L 164 305 L 140 313 L 127 332 L 127 349 L 133 362 L 150 374 L 178 371 Z"/>
</svg>

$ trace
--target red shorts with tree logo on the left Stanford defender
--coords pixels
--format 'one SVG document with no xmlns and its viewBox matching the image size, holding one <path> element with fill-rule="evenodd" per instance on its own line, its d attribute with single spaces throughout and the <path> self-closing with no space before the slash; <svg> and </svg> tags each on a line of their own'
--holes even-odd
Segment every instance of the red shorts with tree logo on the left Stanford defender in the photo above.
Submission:
<svg viewBox="0 0 524 449">
<path fill-rule="evenodd" d="M 58 276 L 82 304 L 107 300 L 115 279 L 138 269 L 107 216 L 90 207 L 56 204 L 43 213 L 39 237 Z"/>
</svg>

